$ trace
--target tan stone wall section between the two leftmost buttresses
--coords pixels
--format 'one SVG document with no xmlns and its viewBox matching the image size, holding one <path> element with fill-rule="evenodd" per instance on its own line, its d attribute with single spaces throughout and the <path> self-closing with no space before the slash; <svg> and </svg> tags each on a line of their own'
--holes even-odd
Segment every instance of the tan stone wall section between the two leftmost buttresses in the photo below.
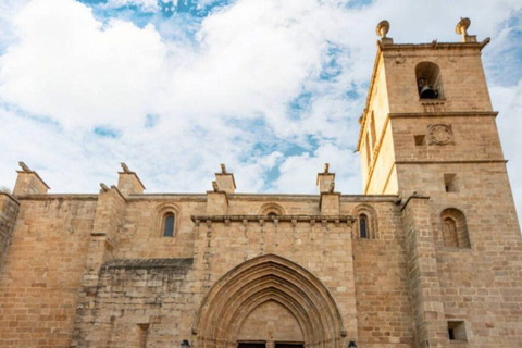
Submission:
<svg viewBox="0 0 522 348">
<path fill-rule="evenodd" d="M 0 271 L 0 347 L 69 347 L 96 198 L 23 198 Z"/>
</svg>

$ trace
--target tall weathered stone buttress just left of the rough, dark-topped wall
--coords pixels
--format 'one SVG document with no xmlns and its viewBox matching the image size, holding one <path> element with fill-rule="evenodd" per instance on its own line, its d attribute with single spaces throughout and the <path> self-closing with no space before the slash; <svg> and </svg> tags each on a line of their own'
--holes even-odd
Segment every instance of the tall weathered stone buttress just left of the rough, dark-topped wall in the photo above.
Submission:
<svg viewBox="0 0 522 348">
<path fill-rule="evenodd" d="M 101 186 L 71 347 L 105 347 L 107 343 L 102 340 L 108 337 L 111 325 L 110 318 L 96 316 L 95 303 L 101 266 L 114 257 L 117 247 L 117 232 L 123 222 L 126 201 L 117 187 Z"/>
</svg>

